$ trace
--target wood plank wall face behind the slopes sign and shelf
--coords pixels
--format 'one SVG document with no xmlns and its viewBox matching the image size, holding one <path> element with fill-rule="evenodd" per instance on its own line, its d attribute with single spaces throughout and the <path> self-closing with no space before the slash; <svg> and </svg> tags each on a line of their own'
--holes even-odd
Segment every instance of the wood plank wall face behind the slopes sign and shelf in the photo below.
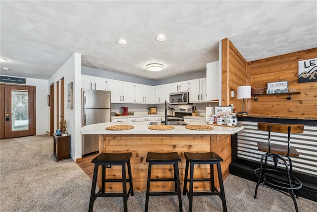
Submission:
<svg viewBox="0 0 317 212">
<path fill-rule="evenodd" d="M 288 117 L 317 117 L 317 82 L 298 83 L 298 61 L 317 58 L 317 48 L 248 62 L 247 69 L 253 88 L 267 87 L 267 82 L 288 81 L 289 88 L 300 94 L 257 96 L 251 100 L 251 111 L 256 115 Z M 317 76 L 315 76 L 317 77 Z"/>
</svg>

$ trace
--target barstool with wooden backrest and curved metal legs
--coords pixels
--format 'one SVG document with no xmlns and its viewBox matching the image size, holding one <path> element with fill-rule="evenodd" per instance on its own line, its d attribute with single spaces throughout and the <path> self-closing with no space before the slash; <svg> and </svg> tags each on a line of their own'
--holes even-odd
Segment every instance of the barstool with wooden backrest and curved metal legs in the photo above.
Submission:
<svg viewBox="0 0 317 212">
<path fill-rule="evenodd" d="M 254 198 L 257 199 L 259 185 L 265 185 L 291 196 L 294 201 L 295 210 L 298 212 L 296 203 L 296 198 L 298 198 L 297 190 L 302 188 L 302 182 L 293 175 L 292 160 L 290 156 L 298 157 L 299 153 L 296 148 L 290 146 L 290 136 L 291 133 L 303 133 L 304 125 L 259 122 L 258 130 L 268 132 L 268 142 L 257 142 L 258 149 L 266 152 L 266 154 L 261 157 L 260 168 L 254 171 L 259 179 Z M 271 143 L 271 132 L 287 134 L 287 145 Z M 268 158 L 271 158 L 271 160 Z M 278 167 L 279 160 L 282 161 L 282 163 L 279 163 L 280 166 Z M 268 161 L 271 161 L 273 166 L 269 165 Z"/>
</svg>

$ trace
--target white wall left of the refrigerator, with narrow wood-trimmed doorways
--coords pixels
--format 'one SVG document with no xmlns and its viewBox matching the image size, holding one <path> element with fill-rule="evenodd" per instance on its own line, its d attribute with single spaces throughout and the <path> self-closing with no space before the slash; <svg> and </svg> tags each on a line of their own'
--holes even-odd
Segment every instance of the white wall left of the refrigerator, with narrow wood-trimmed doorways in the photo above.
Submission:
<svg viewBox="0 0 317 212">
<path fill-rule="evenodd" d="M 67 133 L 71 136 L 72 159 L 81 157 L 81 55 L 74 53 L 49 79 L 49 85 L 54 83 L 54 92 L 56 92 L 56 82 L 64 78 L 64 102 L 65 102 L 65 120 L 68 123 Z M 67 109 L 67 85 L 73 82 L 73 109 Z M 60 83 L 59 83 L 60 85 Z M 49 90 L 49 86 L 47 90 Z M 60 89 L 59 89 L 60 90 Z M 54 93 L 54 96 L 57 96 Z M 59 95 L 60 98 L 60 95 Z M 59 101 L 60 103 L 60 101 Z M 56 105 L 56 99 L 54 100 Z M 60 104 L 58 105 L 60 107 Z M 56 111 L 54 111 L 56 117 Z M 56 126 L 56 119 L 54 120 Z"/>
</svg>

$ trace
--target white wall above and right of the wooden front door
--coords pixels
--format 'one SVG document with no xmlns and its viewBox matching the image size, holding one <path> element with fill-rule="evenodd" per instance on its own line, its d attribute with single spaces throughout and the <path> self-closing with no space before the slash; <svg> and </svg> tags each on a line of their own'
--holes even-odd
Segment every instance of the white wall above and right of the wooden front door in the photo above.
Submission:
<svg viewBox="0 0 317 212">
<path fill-rule="evenodd" d="M 14 76 L 18 77 L 18 76 Z M 24 77 L 21 77 L 24 78 Z M 49 86 L 46 79 L 26 78 L 26 85 L 35 86 L 36 95 L 36 135 L 44 135 L 50 130 L 50 107 L 48 106 Z"/>
</svg>

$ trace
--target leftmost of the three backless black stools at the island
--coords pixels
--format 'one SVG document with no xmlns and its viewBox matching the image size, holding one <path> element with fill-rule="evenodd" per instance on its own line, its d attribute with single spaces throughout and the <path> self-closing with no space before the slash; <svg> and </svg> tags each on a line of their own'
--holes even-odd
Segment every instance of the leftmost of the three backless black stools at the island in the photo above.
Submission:
<svg viewBox="0 0 317 212">
<path fill-rule="evenodd" d="M 132 185 L 131 165 L 130 165 L 131 156 L 132 156 L 131 152 L 127 152 L 127 153 L 101 153 L 91 161 L 92 163 L 95 163 L 95 168 L 94 168 L 93 184 L 91 187 L 89 212 L 93 211 L 94 202 L 97 199 L 97 197 L 123 197 L 124 212 L 128 211 L 129 195 L 130 194 L 131 194 L 131 196 L 134 195 L 133 185 Z M 126 179 L 126 172 L 125 172 L 125 164 L 126 163 L 128 166 L 129 179 Z M 122 179 L 106 179 L 106 166 L 107 165 L 110 165 L 110 166 L 120 165 L 120 166 L 122 166 Z M 102 187 L 98 191 L 98 193 L 95 193 L 99 166 L 102 166 Z M 122 193 L 105 193 L 106 182 L 121 182 L 122 187 L 123 187 Z M 127 182 L 130 183 L 130 188 L 129 188 L 128 193 L 127 193 Z"/>
</svg>

